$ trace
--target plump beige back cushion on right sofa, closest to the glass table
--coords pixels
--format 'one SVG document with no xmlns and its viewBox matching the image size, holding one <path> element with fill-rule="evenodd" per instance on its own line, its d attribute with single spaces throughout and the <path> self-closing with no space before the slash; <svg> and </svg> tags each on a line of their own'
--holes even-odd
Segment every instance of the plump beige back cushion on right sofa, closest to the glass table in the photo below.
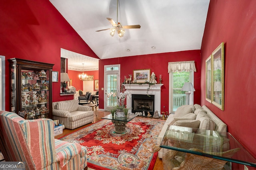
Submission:
<svg viewBox="0 0 256 170">
<path fill-rule="evenodd" d="M 200 121 L 199 129 L 215 130 L 215 123 L 206 113 L 198 113 L 196 120 Z"/>
</svg>

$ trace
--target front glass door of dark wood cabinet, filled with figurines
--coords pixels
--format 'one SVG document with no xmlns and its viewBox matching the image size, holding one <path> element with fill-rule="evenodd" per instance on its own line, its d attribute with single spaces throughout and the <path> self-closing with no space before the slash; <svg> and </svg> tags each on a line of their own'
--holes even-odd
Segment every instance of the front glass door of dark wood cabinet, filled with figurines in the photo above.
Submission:
<svg viewBox="0 0 256 170">
<path fill-rule="evenodd" d="M 21 70 L 21 111 L 27 119 L 48 118 L 49 70 Z"/>
</svg>

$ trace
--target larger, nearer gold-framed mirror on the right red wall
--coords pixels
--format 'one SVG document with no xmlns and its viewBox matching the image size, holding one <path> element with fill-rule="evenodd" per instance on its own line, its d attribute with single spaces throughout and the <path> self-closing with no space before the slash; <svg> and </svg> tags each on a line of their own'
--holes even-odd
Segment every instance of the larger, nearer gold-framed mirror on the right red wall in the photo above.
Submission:
<svg viewBox="0 0 256 170">
<path fill-rule="evenodd" d="M 224 43 L 212 52 L 212 104 L 224 110 Z"/>
</svg>

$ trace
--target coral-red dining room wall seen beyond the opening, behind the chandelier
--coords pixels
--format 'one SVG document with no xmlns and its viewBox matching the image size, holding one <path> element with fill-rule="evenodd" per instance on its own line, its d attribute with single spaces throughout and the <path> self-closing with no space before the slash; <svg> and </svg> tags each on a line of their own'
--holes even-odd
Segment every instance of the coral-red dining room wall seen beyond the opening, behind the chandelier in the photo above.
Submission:
<svg viewBox="0 0 256 170">
<path fill-rule="evenodd" d="M 72 86 L 76 88 L 76 90 L 83 90 L 83 81 L 79 79 L 79 74 L 82 74 L 82 71 L 74 71 L 74 70 L 68 70 L 68 77 L 72 79 Z M 84 74 L 86 75 L 93 75 L 94 80 L 99 80 L 99 71 L 84 71 Z M 95 87 L 94 87 L 94 91 Z"/>
</svg>

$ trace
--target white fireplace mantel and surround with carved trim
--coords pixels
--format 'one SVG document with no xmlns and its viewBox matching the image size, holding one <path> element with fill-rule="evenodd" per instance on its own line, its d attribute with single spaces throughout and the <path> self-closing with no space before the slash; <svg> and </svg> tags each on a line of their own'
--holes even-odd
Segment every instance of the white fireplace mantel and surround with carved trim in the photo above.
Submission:
<svg viewBox="0 0 256 170">
<path fill-rule="evenodd" d="M 161 86 L 164 84 L 153 84 L 150 85 L 150 88 L 148 89 L 148 84 L 123 84 L 125 86 L 125 89 L 127 92 L 132 94 L 148 94 L 148 95 L 154 95 L 155 101 L 154 101 L 154 107 L 155 111 L 158 111 L 159 116 L 161 115 Z M 148 93 L 147 93 L 148 92 Z M 126 98 L 126 107 L 132 108 L 132 97 Z M 129 109 L 131 112 L 131 109 Z"/>
</svg>

